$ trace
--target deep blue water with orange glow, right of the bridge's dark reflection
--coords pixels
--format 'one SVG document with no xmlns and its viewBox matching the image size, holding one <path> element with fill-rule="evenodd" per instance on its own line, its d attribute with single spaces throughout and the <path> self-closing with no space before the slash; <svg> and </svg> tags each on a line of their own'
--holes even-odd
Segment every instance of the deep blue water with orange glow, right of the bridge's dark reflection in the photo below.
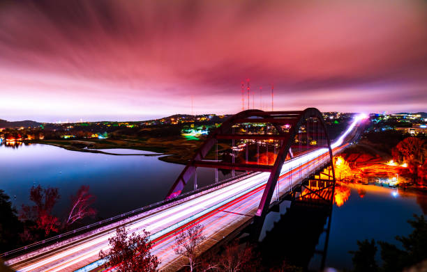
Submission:
<svg viewBox="0 0 427 272">
<path fill-rule="evenodd" d="M 334 205 L 327 252 L 327 265 L 349 268 L 357 250 L 356 240 L 375 239 L 396 243 L 396 235 L 407 236 L 412 214 L 427 213 L 427 195 L 375 185 L 351 184 L 348 200 Z M 361 193 L 361 194 L 360 194 Z M 378 246 L 380 250 L 380 247 Z M 377 253 L 379 259 L 380 253 Z"/>
</svg>

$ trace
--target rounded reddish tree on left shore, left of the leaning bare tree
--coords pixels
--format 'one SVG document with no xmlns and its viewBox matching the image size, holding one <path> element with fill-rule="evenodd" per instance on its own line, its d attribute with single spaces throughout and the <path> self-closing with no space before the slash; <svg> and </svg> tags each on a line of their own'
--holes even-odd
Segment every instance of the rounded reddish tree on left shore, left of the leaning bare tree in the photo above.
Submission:
<svg viewBox="0 0 427 272">
<path fill-rule="evenodd" d="M 20 218 L 24 221 L 36 222 L 36 227 L 43 230 L 45 235 L 58 232 L 59 219 L 52 215 L 52 209 L 59 200 L 57 188 L 43 189 L 40 185 L 31 187 L 30 200 L 35 205 L 22 205 Z"/>
</svg>

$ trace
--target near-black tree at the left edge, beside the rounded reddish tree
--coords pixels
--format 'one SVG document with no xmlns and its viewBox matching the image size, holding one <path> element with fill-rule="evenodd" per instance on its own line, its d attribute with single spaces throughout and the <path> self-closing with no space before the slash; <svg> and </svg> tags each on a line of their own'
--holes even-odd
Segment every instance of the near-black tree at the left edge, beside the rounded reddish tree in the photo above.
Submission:
<svg viewBox="0 0 427 272">
<path fill-rule="evenodd" d="M 0 189 L 0 252 L 17 246 L 18 232 L 22 224 L 17 218 L 17 211 L 12 207 L 10 198 Z"/>
</svg>

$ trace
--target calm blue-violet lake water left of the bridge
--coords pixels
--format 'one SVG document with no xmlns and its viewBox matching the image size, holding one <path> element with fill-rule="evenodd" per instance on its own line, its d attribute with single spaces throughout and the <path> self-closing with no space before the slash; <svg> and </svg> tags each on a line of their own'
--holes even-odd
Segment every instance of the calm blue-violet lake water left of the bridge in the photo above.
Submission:
<svg viewBox="0 0 427 272">
<path fill-rule="evenodd" d="M 89 185 L 100 218 L 144 207 L 165 198 L 183 165 L 158 159 L 141 150 L 103 150 L 115 154 L 75 152 L 52 145 L 0 145 L 0 189 L 15 207 L 29 204 L 31 186 L 57 187 L 61 198 L 54 213 L 65 214 L 70 196 Z M 151 156 L 137 155 L 150 154 Z M 213 169 L 197 170 L 199 186 L 213 182 Z M 220 179 L 225 177 L 219 173 Z M 193 189 L 190 181 L 185 191 Z"/>
</svg>

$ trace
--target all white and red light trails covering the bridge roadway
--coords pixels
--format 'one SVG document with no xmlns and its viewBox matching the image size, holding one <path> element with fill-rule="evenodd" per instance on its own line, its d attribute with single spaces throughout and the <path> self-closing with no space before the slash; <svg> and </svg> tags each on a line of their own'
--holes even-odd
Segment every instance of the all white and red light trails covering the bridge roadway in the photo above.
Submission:
<svg viewBox="0 0 427 272">
<path fill-rule="evenodd" d="M 331 145 L 334 152 L 338 152 L 348 145 L 343 145 L 344 139 L 362 119 L 363 117 L 355 118 L 347 130 Z M 326 161 L 329 161 L 329 150 L 327 148 L 320 148 L 286 161 L 280 171 L 280 177 L 276 185 L 278 193 L 283 195 L 295 183 L 301 181 L 299 177 L 304 179 L 310 173 L 310 170 L 314 170 Z M 257 208 L 269 175 L 269 173 L 253 175 L 216 191 L 211 191 L 197 198 L 137 219 L 132 223 L 123 223 L 123 225 L 126 225 L 129 232 L 139 233 L 142 230 L 151 232 L 150 239 L 155 243 L 152 249 L 153 254 L 167 261 L 166 264 L 170 264 L 174 259 L 177 259 L 172 250 L 175 232 L 179 232 L 195 221 L 206 221 L 205 232 L 207 237 L 213 237 L 220 230 L 220 227 L 230 225 L 236 218 L 239 218 L 239 214 L 248 214 Z M 271 201 L 273 202 L 274 200 L 272 199 Z M 219 214 L 221 215 L 218 216 Z M 96 262 L 93 261 L 96 260 L 94 258 L 99 254 L 100 250 L 109 248 L 108 239 L 114 235 L 115 228 L 111 227 L 107 232 L 96 234 L 94 237 L 87 239 L 87 241 L 82 239 L 79 243 L 68 248 L 59 248 L 58 252 L 54 252 L 47 257 L 42 254 L 34 259 L 32 263 L 19 264 L 17 269 L 20 272 L 73 271 L 74 269 L 71 266 L 81 264 L 84 267 L 77 271 L 90 271 L 103 264 L 104 261 L 102 259 Z M 6 264 L 10 264 L 10 262 L 13 262 L 13 259 L 6 262 Z M 91 265 L 88 266 L 88 264 Z"/>
</svg>

